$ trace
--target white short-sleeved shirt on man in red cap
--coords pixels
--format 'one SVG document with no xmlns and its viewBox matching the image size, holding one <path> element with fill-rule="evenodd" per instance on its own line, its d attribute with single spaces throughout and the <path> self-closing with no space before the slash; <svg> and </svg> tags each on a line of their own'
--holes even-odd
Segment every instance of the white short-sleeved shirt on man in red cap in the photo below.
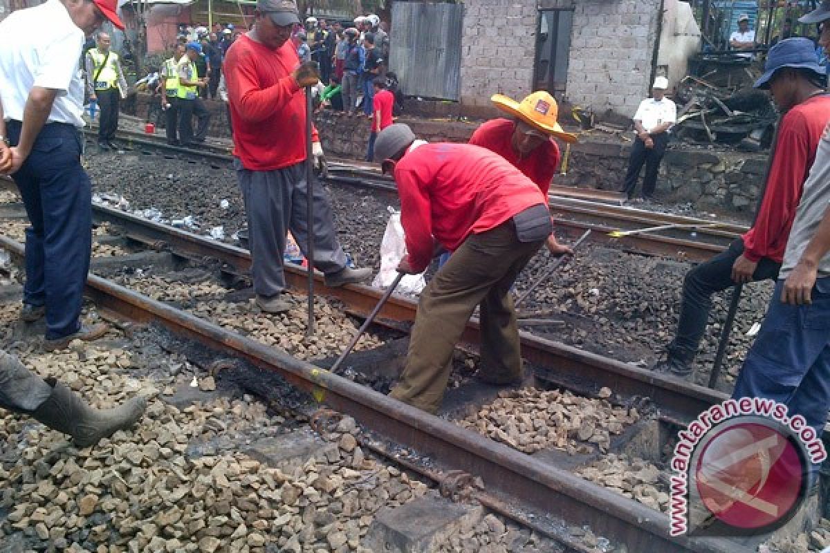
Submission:
<svg viewBox="0 0 830 553">
<path fill-rule="evenodd" d="M 0 101 L 5 119 L 23 119 L 32 86 L 57 90 L 48 122 L 83 127 L 84 32 L 60 0 L 12 12 L 0 22 Z"/>
</svg>

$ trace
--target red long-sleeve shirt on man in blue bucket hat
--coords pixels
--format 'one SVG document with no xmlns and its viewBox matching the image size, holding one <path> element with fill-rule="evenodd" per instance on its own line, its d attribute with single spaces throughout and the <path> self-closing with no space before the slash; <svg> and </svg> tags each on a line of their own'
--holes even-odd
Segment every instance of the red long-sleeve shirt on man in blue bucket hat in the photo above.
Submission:
<svg viewBox="0 0 830 553">
<path fill-rule="evenodd" d="M 764 200 L 754 226 L 744 235 L 746 259 L 755 263 L 762 257 L 778 263 L 784 260 L 804 181 L 813 167 L 828 121 L 830 96 L 814 96 L 790 109 L 781 119 Z"/>
</svg>

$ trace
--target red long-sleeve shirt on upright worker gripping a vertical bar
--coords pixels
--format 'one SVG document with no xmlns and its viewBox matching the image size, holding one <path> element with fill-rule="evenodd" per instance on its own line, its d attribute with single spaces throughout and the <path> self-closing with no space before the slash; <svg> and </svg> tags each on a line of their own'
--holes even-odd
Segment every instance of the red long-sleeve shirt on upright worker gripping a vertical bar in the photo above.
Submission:
<svg viewBox="0 0 830 553">
<path fill-rule="evenodd" d="M 227 50 L 222 71 L 233 155 L 246 169 L 273 171 L 305 161 L 305 95 L 291 78 L 297 65 L 291 41 L 271 50 L 242 35 Z M 312 140 L 319 139 L 312 129 Z"/>
</svg>

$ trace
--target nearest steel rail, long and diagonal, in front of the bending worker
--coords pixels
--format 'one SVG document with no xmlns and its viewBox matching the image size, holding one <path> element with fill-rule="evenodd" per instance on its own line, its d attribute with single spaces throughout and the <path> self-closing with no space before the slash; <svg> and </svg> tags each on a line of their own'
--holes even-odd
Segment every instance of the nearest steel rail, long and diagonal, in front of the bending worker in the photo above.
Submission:
<svg viewBox="0 0 830 553">
<path fill-rule="evenodd" d="M 5 236 L 0 236 L 0 247 L 23 256 L 23 246 Z M 668 536 L 668 517 L 640 502 L 94 274 L 86 291 L 101 308 L 139 323 L 159 323 L 223 355 L 231 353 L 274 371 L 368 429 L 444 466 L 481 477 L 489 490 L 569 524 L 588 524 L 598 534 L 625 543 L 629 551 L 749 551 L 724 539 Z"/>
</svg>

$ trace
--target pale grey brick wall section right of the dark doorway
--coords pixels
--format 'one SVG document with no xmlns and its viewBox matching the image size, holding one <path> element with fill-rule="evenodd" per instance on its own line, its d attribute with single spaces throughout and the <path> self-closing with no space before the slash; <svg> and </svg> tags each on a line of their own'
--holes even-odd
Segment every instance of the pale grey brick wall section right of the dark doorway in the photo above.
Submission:
<svg viewBox="0 0 830 553">
<path fill-rule="evenodd" d="M 599 114 L 634 114 L 648 95 L 660 6 L 660 0 L 575 2 L 565 93 L 571 103 Z"/>
</svg>

